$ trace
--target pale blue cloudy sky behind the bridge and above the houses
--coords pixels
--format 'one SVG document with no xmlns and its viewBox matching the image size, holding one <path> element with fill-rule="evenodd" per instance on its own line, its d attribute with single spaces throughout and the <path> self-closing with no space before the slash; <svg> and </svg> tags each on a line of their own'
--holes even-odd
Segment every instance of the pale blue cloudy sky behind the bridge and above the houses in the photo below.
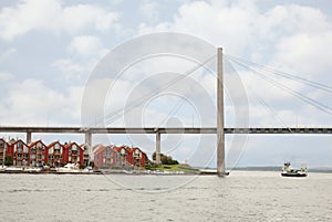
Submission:
<svg viewBox="0 0 332 222">
<path fill-rule="evenodd" d="M 106 78 L 91 81 L 102 59 L 111 56 L 115 49 L 160 32 L 188 34 L 212 46 L 222 46 L 227 70 L 226 127 L 242 126 L 237 123 L 241 117 L 236 110 L 246 112 L 249 120 L 245 125 L 251 127 L 332 125 L 330 1 L 2 0 L 0 30 L 2 126 L 215 126 L 216 114 L 210 105 L 216 102 L 216 61 L 209 61 L 206 68 L 195 68 L 197 63 L 188 57 L 162 55 L 133 61 L 121 76 L 108 73 Z M 127 56 L 108 62 L 122 62 L 138 53 L 137 49 L 125 52 Z M 245 61 L 242 65 L 236 62 L 239 59 Z M 246 61 L 295 77 L 283 78 L 267 68 L 252 72 Z M 188 71 L 190 78 L 181 78 L 173 88 L 158 93 L 165 78 L 176 80 L 177 74 Z M 235 83 L 231 73 L 242 84 Z M 103 115 L 90 106 L 87 123 L 82 120 L 82 107 L 86 105 L 84 92 L 89 84 L 95 84 L 95 93 L 90 94 L 93 101 L 101 99 L 102 93 L 105 98 Z M 100 92 L 103 87 L 106 91 Z M 239 88 L 248 104 L 243 105 L 240 98 L 237 104 L 238 97 L 234 95 Z M 154 93 L 145 96 L 144 92 Z M 201 106 L 206 107 L 200 109 Z M 1 136 L 24 138 L 19 134 Z M 33 136 L 38 138 L 46 142 L 83 141 L 83 136 L 77 135 Z M 93 139 L 139 146 L 147 152 L 154 150 L 153 136 Z M 163 152 L 191 165 L 215 166 L 214 136 L 165 135 L 163 139 Z M 227 136 L 226 141 L 230 167 L 278 166 L 286 160 L 332 166 L 330 136 Z"/>
</svg>

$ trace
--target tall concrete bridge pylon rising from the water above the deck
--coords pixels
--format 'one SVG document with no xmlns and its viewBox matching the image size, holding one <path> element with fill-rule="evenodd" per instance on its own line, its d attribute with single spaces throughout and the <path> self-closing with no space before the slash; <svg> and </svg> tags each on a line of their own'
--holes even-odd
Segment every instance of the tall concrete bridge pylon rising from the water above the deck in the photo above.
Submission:
<svg viewBox="0 0 332 222">
<path fill-rule="evenodd" d="M 224 131 L 224 77 L 222 49 L 217 49 L 217 175 L 226 176 L 225 171 L 225 131 Z"/>
</svg>

